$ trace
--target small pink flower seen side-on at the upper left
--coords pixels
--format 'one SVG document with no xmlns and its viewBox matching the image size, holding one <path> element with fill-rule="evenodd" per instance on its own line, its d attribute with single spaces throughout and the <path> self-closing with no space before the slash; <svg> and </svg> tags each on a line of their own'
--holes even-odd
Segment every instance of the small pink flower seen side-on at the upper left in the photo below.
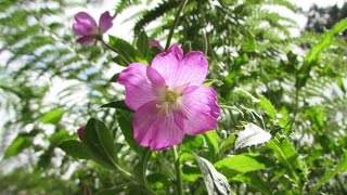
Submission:
<svg viewBox="0 0 347 195">
<path fill-rule="evenodd" d="M 77 35 L 81 36 L 77 39 L 77 42 L 81 44 L 95 43 L 97 38 L 106 32 L 113 25 L 113 17 L 110 15 L 108 11 L 101 14 L 99 26 L 93 17 L 86 12 L 77 13 L 75 15 L 75 21 L 73 29 Z"/>
</svg>

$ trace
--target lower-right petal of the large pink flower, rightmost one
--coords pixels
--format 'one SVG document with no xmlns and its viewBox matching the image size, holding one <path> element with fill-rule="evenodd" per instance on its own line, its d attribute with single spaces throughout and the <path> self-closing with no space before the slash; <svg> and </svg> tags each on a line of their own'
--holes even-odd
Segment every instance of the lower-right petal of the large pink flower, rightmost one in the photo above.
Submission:
<svg viewBox="0 0 347 195">
<path fill-rule="evenodd" d="M 193 91 L 189 88 L 195 88 Z M 220 115 L 217 104 L 217 94 L 213 88 L 200 86 L 189 87 L 180 104 L 180 117 L 184 119 L 184 133 L 201 134 L 217 128 L 217 118 Z"/>
</svg>

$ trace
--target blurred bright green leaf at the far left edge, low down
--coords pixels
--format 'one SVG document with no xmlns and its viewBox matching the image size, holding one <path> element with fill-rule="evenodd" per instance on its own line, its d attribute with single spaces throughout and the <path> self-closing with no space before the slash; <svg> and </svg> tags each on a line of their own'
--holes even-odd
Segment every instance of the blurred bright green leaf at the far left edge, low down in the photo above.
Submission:
<svg viewBox="0 0 347 195">
<path fill-rule="evenodd" d="M 31 145 L 31 139 L 26 136 L 18 135 L 16 139 L 12 141 L 7 152 L 4 153 L 3 159 L 7 159 L 12 156 L 16 156 L 23 150 L 29 147 Z"/>
</svg>

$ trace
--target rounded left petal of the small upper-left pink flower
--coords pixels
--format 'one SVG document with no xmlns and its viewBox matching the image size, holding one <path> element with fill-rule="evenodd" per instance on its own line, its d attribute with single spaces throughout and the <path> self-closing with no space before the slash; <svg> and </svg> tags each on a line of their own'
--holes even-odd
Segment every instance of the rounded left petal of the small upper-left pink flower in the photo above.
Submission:
<svg viewBox="0 0 347 195">
<path fill-rule="evenodd" d="M 78 35 L 94 35 L 98 34 L 97 22 L 86 12 L 79 12 L 75 15 L 76 23 L 73 29 Z"/>
</svg>

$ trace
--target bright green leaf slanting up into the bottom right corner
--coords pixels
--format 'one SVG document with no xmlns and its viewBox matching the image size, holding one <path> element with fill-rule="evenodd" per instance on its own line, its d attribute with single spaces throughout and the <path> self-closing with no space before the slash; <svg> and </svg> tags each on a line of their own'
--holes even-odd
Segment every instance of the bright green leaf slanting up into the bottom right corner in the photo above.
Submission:
<svg viewBox="0 0 347 195">
<path fill-rule="evenodd" d="M 333 169 L 327 169 L 320 181 L 312 187 L 312 194 L 316 193 L 322 185 L 324 185 L 331 178 L 340 172 L 347 171 L 347 151 L 344 153 L 343 160 Z"/>
</svg>

